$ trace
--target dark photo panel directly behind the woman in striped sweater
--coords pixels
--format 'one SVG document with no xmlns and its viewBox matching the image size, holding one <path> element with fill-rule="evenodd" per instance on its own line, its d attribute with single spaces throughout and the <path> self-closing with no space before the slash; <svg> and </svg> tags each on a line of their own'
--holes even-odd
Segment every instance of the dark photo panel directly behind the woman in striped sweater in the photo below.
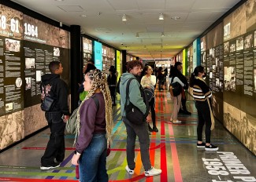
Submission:
<svg viewBox="0 0 256 182">
<path fill-rule="evenodd" d="M 223 121 L 223 24 L 218 24 L 201 38 L 201 65 L 205 67 L 206 84 L 212 89 L 213 115 Z"/>
</svg>

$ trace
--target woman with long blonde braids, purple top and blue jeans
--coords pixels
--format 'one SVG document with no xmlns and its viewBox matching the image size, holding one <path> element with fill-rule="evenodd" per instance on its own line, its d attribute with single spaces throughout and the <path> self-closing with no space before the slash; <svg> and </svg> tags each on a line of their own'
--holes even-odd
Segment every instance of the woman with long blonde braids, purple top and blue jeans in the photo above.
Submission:
<svg viewBox="0 0 256 182">
<path fill-rule="evenodd" d="M 79 164 L 80 182 L 109 180 L 106 173 L 107 146 L 113 129 L 112 102 L 106 76 L 98 69 L 84 76 L 87 96 L 77 115 L 78 133 L 72 164 Z M 98 100 L 98 107 L 93 97 Z"/>
</svg>

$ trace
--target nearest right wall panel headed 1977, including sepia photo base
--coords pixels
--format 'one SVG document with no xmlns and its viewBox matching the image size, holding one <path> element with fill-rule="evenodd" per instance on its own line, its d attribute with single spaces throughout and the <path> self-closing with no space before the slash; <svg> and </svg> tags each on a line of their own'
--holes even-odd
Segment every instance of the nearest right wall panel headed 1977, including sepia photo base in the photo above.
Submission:
<svg viewBox="0 0 256 182">
<path fill-rule="evenodd" d="M 223 21 L 224 126 L 254 154 L 256 153 L 255 12 L 256 2 L 248 0 Z"/>
</svg>

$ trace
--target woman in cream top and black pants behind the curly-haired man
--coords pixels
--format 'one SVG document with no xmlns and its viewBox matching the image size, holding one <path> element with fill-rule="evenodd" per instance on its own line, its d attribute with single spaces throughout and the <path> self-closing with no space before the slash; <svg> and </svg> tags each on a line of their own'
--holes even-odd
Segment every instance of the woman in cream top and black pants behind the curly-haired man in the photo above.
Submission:
<svg viewBox="0 0 256 182">
<path fill-rule="evenodd" d="M 140 84 L 143 86 L 143 89 L 149 90 L 150 92 L 150 112 L 151 112 L 151 117 L 153 121 L 153 129 L 150 126 L 150 123 L 148 123 L 148 128 L 150 132 L 158 132 L 158 128 L 156 126 L 156 118 L 155 118 L 155 100 L 154 100 L 154 86 L 156 84 L 156 77 L 152 75 L 153 69 L 149 65 L 145 66 L 143 68 L 143 78 L 141 78 Z"/>
</svg>

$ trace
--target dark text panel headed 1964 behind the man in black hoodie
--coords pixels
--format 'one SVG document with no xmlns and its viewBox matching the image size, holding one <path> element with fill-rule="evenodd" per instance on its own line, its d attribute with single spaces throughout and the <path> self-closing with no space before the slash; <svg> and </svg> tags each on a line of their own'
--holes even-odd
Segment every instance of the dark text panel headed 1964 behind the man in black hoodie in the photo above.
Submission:
<svg viewBox="0 0 256 182">
<path fill-rule="evenodd" d="M 69 84 L 69 32 L 24 15 L 24 107 L 39 104 L 41 76 L 50 74 L 51 61 L 60 61 L 61 78 Z"/>
</svg>

